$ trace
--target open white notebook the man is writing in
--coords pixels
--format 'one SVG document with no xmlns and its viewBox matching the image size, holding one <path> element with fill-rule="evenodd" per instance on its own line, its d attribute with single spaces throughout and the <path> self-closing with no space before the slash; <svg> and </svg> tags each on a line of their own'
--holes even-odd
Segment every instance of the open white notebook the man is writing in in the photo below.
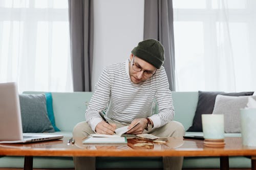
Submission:
<svg viewBox="0 0 256 170">
<path fill-rule="evenodd" d="M 135 124 L 131 129 L 136 127 L 140 122 Z M 106 135 L 106 134 L 91 134 L 88 138 L 84 139 L 82 143 L 84 144 L 92 144 L 92 143 L 127 143 L 126 137 L 121 137 L 122 134 L 126 133 L 127 131 L 131 130 L 128 129 L 129 126 L 124 126 L 121 128 L 116 129 L 115 135 Z"/>
</svg>

